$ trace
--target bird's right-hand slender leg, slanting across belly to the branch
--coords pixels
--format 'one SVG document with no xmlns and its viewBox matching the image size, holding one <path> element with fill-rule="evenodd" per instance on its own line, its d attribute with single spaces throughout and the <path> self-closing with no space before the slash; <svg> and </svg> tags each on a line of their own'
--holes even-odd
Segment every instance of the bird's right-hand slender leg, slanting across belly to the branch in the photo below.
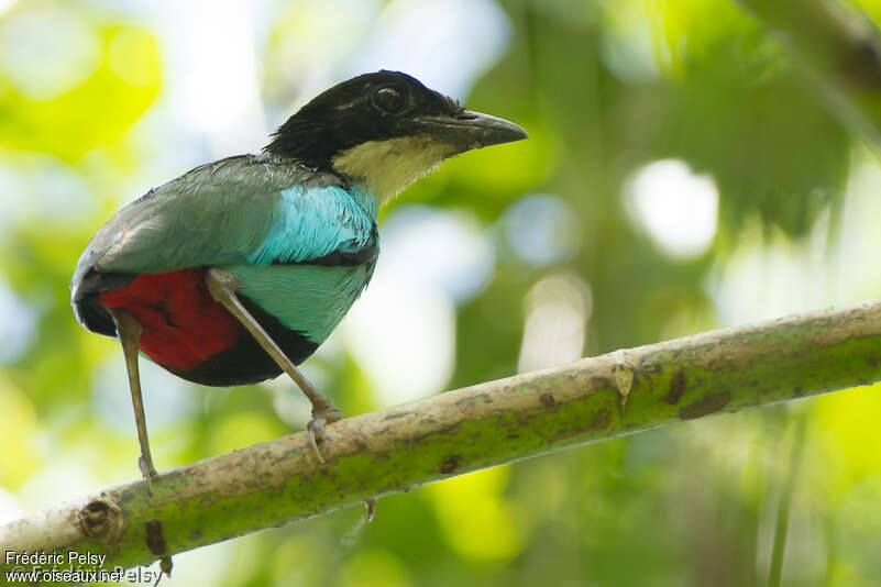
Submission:
<svg viewBox="0 0 881 587">
<path fill-rule="evenodd" d="M 309 422 L 307 427 L 309 431 L 309 442 L 318 459 L 323 463 L 324 458 L 321 456 L 316 441 L 321 440 L 324 435 L 324 424 L 341 420 L 342 413 L 333 402 L 321 395 L 321 392 L 302 376 L 296 365 L 285 355 L 285 352 L 282 351 L 266 331 L 263 330 L 260 322 L 242 306 L 242 301 L 239 299 L 239 296 L 235 295 L 235 291 L 239 289 L 239 283 L 230 272 L 211 267 L 205 274 L 205 281 L 208 285 L 208 290 L 211 292 L 211 296 L 232 315 L 239 319 L 263 350 L 278 363 L 278 366 L 294 379 L 294 383 L 297 384 L 306 397 L 309 398 L 309 402 L 312 405 L 312 421 Z"/>
</svg>

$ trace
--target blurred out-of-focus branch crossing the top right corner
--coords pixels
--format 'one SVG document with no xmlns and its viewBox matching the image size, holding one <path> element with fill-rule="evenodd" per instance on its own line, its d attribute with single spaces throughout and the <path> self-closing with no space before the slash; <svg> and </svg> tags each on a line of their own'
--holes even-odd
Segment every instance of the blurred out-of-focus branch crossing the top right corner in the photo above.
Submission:
<svg viewBox="0 0 881 587">
<path fill-rule="evenodd" d="M 881 149 L 881 34 L 838 0 L 739 0 L 821 90 L 833 115 Z"/>
</svg>

